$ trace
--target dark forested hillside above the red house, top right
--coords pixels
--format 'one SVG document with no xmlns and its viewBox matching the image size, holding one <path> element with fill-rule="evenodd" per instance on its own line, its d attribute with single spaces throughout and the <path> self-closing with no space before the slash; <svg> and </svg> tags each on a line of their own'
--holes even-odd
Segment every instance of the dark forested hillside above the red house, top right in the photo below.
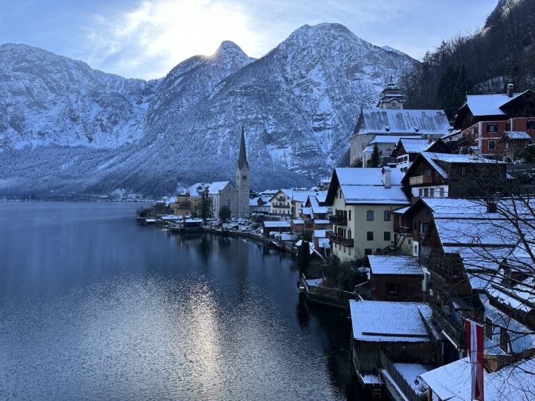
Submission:
<svg viewBox="0 0 535 401">
<path fill-rule="evenodd" d="M 499 0 L 481 29 L 443 40 L 401 79 L 410 107 L 440 107 L 453 118 L 466 93 L 535 85 L 535 1 Z"/>
</svg>

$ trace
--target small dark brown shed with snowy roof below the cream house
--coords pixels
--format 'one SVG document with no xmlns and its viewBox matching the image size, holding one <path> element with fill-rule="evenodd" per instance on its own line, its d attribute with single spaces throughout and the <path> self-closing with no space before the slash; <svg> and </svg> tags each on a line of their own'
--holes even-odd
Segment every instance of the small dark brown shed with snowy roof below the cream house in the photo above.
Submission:
<svg viewBox="0 0 535 401">
<path fill-rule="evenodd" d="M 424 271 L 411 256 L 368 255 L 374 301 L 421 302 Z"/>
</svg>

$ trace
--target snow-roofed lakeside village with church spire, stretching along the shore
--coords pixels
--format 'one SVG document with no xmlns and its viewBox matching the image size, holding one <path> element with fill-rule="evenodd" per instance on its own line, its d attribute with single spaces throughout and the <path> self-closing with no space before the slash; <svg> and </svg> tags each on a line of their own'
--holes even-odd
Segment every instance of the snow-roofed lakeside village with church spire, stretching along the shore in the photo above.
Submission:
<svg viewBox="0 0 535 401">
<path fill-rule="evenodd" d="M 533 400 L 535 92 L 467 95 L 453 124 L 404 104 L 391 81 L 348 165 L 306 189 L 251 191 L 242 126 L 235 184 L 194 183 L 137 220 L 297 255 L 298 289 L 350 318 L 371 398 Z"/>
</svg>

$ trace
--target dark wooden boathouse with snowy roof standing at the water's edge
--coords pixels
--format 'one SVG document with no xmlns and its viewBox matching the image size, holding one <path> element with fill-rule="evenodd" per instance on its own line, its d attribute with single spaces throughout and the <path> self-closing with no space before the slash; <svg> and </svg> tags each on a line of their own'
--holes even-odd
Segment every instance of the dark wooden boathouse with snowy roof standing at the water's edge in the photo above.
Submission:
<svg viewBox="0 0 535 401">
<path fill-rule="evenodd" d="M 374 396 L 390 382 L 390 363 L 437 361 L 439 331 L 429 305 L 350 300 L 349 306 L 352 363 L 359 383 L 375 390 Z"/>
</svg>

